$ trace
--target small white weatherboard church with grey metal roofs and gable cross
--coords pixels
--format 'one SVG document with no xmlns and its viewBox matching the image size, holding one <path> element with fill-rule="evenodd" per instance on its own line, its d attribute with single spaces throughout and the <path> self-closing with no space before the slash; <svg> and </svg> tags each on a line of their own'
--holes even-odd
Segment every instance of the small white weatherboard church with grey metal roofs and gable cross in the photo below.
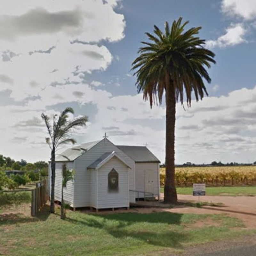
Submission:
<svg viewBox="0 0 256 256">
<path fill-rule="evenodd" d="M 76 207 L 129 207 L 136 198 L 159 198 L 159 163 L 147 147 L 117 146 L 107 139 L 65 150 L 56 157 L 55 200 L 61 201 L 62 165 L 75 170 L 64 201 Z M 51 165 L 49 164 L 51 186 Z M 51 190 L 50 190 L 51 191 Z M 146 193 L 146 194 L 145 194 Z"/>
</svg>

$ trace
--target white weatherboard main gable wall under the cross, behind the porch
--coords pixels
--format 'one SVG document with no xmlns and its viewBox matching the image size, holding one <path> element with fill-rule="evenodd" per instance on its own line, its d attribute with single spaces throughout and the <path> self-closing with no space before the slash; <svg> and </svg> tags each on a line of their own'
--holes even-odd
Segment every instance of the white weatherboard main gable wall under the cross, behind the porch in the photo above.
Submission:
<svg viewBox="0 0 256 256">
<path fill-rule="evenodd" d="M 104 139 L 74 160 L 74 169 L 76 170 L 74 181 L 74 207 L 90 206 L 90 181 L 92 171 L 87 170 L 87 166 L 96 161 L 104 153 L 112 151 L 115 151 L 120 158 L 124 159 L 124 161 L 132 167 L 132 170 L 129 171 L 129 183 L 130 189 L 135 190 L 135 162 L 108 139 Z M 134 192 L 130 192 L 130 202 L 135 202 Z"/>
</svg>

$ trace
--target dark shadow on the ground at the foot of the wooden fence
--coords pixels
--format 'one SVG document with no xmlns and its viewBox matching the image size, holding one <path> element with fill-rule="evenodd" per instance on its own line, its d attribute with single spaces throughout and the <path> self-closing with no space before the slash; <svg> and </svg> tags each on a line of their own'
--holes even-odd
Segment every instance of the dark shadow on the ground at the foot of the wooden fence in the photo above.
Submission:
<svg viewBox="0 0 256 256">
<path fill-rule="evenodd" d="M 26 216 L 23 213 L 2 213 L 0 214 L 0 226 L 1 225 L 13 225 L 20 223 L 29 223 L 36 221 L 46 221 L 50 215 L 49 206 L 46 205 L 41 212 L 38 212 L 35 217 Z"/>
</svg>

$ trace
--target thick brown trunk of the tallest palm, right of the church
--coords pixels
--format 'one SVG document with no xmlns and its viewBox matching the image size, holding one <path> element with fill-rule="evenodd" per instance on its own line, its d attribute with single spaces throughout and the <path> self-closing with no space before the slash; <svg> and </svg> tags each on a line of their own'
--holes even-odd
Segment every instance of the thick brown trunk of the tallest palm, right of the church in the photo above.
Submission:
<svg viewBox="0 0 256 256">
<path fill-rule="evenodd" d="M 170 76 L 165 78 L 165 103 L 166 103 L 166 140 L 165 140 L 165 185 L 164 203 L 177 203 L 177 193 L 174 184 L 174 139 L 175 139 L 175 90 Z"/>
</svg>

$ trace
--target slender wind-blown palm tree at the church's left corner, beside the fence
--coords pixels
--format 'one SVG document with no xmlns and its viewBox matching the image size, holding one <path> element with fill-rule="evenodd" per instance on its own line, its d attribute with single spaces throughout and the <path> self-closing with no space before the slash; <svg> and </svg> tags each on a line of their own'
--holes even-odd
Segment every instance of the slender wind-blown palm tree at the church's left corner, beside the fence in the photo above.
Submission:
<svg viewBox="0 0 256 256">
<path fill-rule="evenodd" d="M 47 131 L 50 137 L 45 138 L 46 143 L 51 148 L 51 206 L 50 212 L 54 213 L 54 186 L 55 186 L 55 154 L 60 145 L 72 143 L 75 144 L 76 140 L 69 138 L 70 133 L 79 126 L 86 125 L 88 121 L 87 116 L 76 118 L 68 121 L 68 114 L 74 114 L 73 108 L 66 108 L 60 115 L 53 116 L 53 122 L 50 124 L 50 117 L 42 113 L 42 118 L 45 122 Z"/>
</svg>

